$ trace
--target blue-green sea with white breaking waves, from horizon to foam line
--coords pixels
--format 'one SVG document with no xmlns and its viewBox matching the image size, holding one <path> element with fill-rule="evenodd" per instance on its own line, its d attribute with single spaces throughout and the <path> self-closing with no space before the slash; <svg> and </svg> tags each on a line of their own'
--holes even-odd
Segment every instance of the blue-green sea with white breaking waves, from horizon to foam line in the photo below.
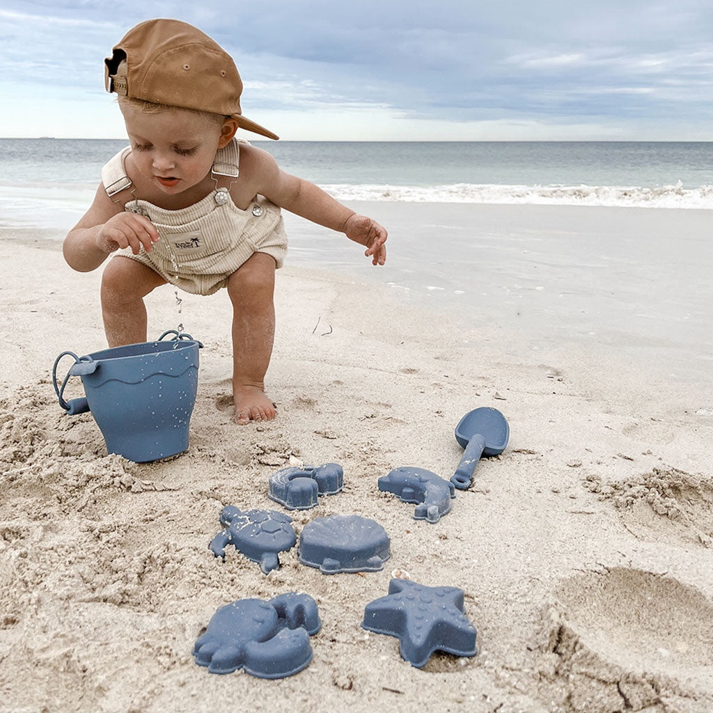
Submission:
<svg viewBox="0 0 713 713">
<path fill-rule="evenodd" d="M 253 143 L 339 200 L 713 207 L 713 143 Z M 86 191 L 123 145 L 0 139 L 4 216 L 35 215 L 60 194 L 81 215 Z"/>
</svg>

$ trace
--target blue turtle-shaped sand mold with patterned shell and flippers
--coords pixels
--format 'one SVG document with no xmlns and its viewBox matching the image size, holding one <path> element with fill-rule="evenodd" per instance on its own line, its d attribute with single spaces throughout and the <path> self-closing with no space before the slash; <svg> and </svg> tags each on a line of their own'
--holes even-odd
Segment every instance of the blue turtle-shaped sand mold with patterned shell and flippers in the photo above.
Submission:
<svg viewBox="0 0 713 713">
<path fill-rule="evenodd" d="M 297 543 L 297 535 L 290 523 L 292 518 L 273 510 L 248 510 L 244 513 L 227 505 L 220 513 L 220 530 L 208 547 L 216 557 L 225 560 L 226 545 L 235 549 L 253 562 L 260 564 L 263 573 L 279 568 L 277 553 L 289 550 Z"/>
</svg>

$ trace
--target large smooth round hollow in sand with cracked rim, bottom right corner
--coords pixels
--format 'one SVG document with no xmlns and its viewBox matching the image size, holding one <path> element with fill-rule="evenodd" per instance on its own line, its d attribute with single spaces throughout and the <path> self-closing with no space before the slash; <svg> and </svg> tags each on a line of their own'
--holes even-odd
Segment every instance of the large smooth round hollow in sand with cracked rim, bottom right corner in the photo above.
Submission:
<svg viewBox="0 0 713 713">
<path fill-rule="evenodd" d="M 625 568 L 576 575 L 544 632 L 540 694 L 565 710 L 713 710 L 713 603 L 695 588 Z"/>
</svg>

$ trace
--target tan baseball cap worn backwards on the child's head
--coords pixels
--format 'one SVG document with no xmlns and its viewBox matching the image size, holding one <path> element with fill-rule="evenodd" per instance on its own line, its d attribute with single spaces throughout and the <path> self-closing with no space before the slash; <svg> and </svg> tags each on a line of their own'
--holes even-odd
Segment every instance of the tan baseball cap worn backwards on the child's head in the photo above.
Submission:
<svg viewBox="0 0 713 713">
<path fill-rule="evenodd" d="M 118 75 L 124 59 L 125 75 Z M 125 34 L 104 65 L 106 91 L 231 116 L 241 128 L 279 138 L 242 116 L 242 80 L 235 62 L 193 25 L 165 19 L 142 22 Z"/>
</svg>

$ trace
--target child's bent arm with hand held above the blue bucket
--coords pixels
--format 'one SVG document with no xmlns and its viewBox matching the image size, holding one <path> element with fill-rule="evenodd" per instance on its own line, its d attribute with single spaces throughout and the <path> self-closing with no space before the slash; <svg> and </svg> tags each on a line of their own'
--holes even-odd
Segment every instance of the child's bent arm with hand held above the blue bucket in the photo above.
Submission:
<svg viewBox="0 0 713 713">
<path fill-rule="evenodd" d="M 130 247 L 137 255 L 141 246 L 150 252 L 158 231 L 143 215 L 124 212 L 100 185 L 94 202 L 64 239 L 67 264 L 78 272 L 95 270 L 115 250 Z"/>
</svg>

